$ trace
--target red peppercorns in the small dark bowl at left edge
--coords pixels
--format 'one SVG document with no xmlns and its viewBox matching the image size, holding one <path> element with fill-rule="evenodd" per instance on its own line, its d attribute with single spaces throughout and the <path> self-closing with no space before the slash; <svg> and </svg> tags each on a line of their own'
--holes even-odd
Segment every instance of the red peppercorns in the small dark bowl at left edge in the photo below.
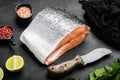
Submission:
<svg viewBox="0 0 120 80">
<path fill-rule="evenodd" d="M 8 26 L 3 26 L 0 28 L 0 39 L 6 39 L 12 36 L 13 31 Z"/>
</svg>

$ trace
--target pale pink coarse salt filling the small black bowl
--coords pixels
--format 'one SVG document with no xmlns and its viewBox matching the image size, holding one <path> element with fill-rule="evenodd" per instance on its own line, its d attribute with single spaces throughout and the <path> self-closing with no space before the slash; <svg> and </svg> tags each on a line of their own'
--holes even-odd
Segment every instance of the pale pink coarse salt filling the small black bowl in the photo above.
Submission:
<svg viewBox="0 0 120 80">
<path fill-rule="evenodd" d="M 17 10 L 17 14 L 21 18 L 29 18 L 32 15 L 32 11 L 30 8 L 23 6 Z"/>
</svg>

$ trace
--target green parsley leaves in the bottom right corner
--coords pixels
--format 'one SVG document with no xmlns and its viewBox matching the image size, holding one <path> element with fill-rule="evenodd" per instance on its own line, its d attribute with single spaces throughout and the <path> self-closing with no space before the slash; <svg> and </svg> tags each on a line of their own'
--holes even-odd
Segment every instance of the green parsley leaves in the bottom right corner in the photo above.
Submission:
<svg viewBox="0 0 120 80">
<path fill-rule="evenodd" d="M 90 80 L 120 80 L 120 58 L 112 66 L 104 66 L 89 74 Z"/>
</svg>

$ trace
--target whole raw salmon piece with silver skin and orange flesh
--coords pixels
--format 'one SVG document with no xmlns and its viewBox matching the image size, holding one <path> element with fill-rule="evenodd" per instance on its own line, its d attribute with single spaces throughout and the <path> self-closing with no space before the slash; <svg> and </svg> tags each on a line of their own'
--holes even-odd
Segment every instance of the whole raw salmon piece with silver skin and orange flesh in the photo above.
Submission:
<svg viewBox="0 0 120 80">
<path fill-rule="evenodd" d="M 20 40 L 46 65 L 76 47 L 90 28 L 73 14 L 55 8 L 40 11 L 23 31 Z"/>
</svg>

